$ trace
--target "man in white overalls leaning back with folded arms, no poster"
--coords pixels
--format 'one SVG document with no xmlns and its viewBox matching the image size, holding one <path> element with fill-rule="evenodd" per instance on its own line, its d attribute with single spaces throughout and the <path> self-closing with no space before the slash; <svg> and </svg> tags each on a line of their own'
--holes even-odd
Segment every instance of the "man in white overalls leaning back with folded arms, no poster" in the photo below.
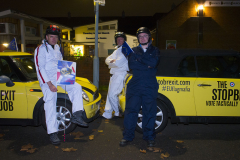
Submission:
<svg viewBox="0 0 240 160">
<path fill-rule="evenodd" d="M 126 35 L 123 32 L 116 32 L 114 37 L 118 48 L 105 60 L 112 75 L 109 82 L 106 105 L 102 115 L 106 119 L 112 118 L 113 111 L 115 112 L 114 116 L 120 116 L 118 95 L 123 89 L 124 78 L 129 70 L 128 60 L 122 53 L 122 45 L 126 41 Z"/>
</svg>

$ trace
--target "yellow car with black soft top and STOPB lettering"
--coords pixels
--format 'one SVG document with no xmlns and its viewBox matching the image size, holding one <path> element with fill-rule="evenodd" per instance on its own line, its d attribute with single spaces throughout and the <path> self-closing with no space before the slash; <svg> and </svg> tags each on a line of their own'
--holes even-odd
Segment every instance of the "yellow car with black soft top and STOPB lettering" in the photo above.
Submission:
<svg viewBox="0 0 240 160">
<path fill-rule="evenodd" d="M 161 50 L 155 131 L 172 123 L 240 123 L 240 54 L 232 50 Z M 131 74 L 119 96 L 125 94 Z M 139 112 L 136 130 L 142 132 Z"/>
</svg>

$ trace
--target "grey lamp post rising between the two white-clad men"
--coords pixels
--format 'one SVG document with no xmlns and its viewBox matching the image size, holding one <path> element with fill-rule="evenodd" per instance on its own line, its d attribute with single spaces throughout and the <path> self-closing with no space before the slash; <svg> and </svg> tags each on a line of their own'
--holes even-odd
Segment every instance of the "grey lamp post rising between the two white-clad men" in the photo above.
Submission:
<svg viewBox="0 0 240 160">
<path fill-rule="evenodd" d="M 98 17 L 99 4 L 105 6 L 105 0 L 93 0 L 95 11 L 95 54 L 93 57 L 93 84 L 99 88 L 99 57 L 98 57 Z"/>
</svg>

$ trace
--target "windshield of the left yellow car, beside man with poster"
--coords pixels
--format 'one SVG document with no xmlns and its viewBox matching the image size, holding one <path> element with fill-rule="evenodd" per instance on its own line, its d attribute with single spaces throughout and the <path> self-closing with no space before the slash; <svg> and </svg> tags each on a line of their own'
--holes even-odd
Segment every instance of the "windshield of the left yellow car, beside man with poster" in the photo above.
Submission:
<svg viewBox="0 0 240 160">
<path fill-rule="evenodd" d="M 37 73 L 33 56 L 13 56 L 13 62 L 22 71 L 26 78 L 37 80 Z"/>
</svg>

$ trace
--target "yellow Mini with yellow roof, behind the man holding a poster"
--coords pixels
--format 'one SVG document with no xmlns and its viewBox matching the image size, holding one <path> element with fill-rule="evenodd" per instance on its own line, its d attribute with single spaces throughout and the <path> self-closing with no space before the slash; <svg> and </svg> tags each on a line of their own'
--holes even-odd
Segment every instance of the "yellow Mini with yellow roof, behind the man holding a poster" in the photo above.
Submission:
<svg viewBox="0 0 240 160">
<path fill-rule="evenodd" d="M 88 79 L 76 77 L 82 86 L 84 119 L 98 117 L 101 95 Z M 23 52 L 0 52 L 0 124 L 43 125 L 46 129 L 44 101 L 37 79 L 34 57 Z M 70 122 L 72 103 L 67 93 L 58 87 L 57 120 L 59 131 L 69 133 L 76 125 Z"/>
</svg>

